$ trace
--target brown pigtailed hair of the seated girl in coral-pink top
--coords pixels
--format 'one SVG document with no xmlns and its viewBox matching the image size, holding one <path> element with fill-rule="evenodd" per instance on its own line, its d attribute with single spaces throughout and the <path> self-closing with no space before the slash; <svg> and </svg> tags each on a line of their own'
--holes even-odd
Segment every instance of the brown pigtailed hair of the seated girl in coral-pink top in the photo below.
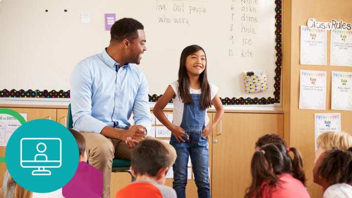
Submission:
<svg viewBox="0 0 352 198">
<path fill-rule="evenodd" d="M 293 159 L 281 144 L 267 144 L 261 151 L 255 152 L 251 162 L 252 184 L 246 189 L 244 198 L 262 198 L 263 194 L 271 197 L 273 187 L 279 186 L 278 176 L 284 173 L 305 184 L 301 154 L 295 148 L 289 149 L 288 151 L 292 151 L 295 155 Z"/>
</svg>

